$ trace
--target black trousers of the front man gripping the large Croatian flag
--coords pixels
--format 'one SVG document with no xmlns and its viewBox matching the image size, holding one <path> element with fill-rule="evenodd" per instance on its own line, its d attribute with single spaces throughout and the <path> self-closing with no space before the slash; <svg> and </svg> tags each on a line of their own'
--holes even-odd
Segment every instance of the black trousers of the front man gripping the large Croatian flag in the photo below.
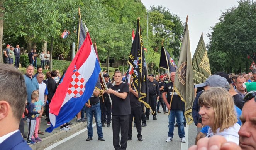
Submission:
<svg viewBox="0 0 256 150">
<path fill-rule="evenodd" d="M 113 146 L 115 150 L 126 150 L 130 115 L 112 115 Z M 121 141 L 119 137 L 121 129 Z M 120 143 L 120 144 L 119 144 Z"/>
</svg>

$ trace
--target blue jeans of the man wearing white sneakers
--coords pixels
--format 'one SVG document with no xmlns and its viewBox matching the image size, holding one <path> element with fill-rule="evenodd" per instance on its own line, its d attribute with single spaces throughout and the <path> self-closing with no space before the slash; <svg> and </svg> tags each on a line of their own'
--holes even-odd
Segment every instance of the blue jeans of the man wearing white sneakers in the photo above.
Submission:
<svg viewBox="0 0 256 150">
<path fill-rule="evenodd" d="M 173 137 L 175 116 L 177 117 L 179 137 L 183 138 L 183 137 L 185 137 L 184 124 L 183 124 L 183 118 L 184 118 L 183 110 L 171 110 L 170 111 L 170 115 L 168 115 L 168 118 L 169 118 L 168 137 Z"/>
</svg>

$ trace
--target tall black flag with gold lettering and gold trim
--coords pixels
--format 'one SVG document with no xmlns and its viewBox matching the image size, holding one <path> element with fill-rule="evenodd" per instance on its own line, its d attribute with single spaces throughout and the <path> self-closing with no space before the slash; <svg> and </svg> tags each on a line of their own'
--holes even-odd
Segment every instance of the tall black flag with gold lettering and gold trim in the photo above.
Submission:
<svg viewBox="0 0 256 150">
<path fill-rule="evenodd" d="M 136 88 L 136 92 L 139 95 L 139 101 L 145 104 L 149 108 L 149 94 L 147 86 L 147 67 L 144 56 L 144 47 L 142 41 L 142 35 L 139 25 L 139 17 L 137 20 L 137 30 L 134 40 L 132 42 L 132 48 L 129 55 L 128 63 L 133 67 L 133 85 Z"/>
</svg>

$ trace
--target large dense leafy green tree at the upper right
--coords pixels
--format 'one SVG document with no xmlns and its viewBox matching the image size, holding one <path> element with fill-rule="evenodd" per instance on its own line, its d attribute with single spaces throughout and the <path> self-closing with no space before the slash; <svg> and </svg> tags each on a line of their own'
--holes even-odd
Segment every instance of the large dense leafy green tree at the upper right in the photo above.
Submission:
<svg viewBox="0 0 256 150">
<path fill-rule="evenodd" d="M 256 3 L 242 0 L 238 3 L 237 7 L 233 6 L 222 13 L 219 22 L 208 35 L 210 43 L 207 47 L 212 72 L 248 72 L 252 62 L 247 59 L 247 55 L 253 54 L 256 47 Z"/>
</svg>

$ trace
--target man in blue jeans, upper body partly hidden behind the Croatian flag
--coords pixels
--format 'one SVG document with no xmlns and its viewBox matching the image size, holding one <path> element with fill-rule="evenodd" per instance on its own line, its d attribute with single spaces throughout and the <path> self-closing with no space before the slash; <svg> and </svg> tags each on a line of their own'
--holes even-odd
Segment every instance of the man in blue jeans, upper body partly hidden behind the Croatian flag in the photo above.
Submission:
<svg viewBox="0 0 256 150">
<path fill-rule="evenodd" d="M 97 133 L 98 133 L 98 140 L 100 141 L 105 141 L 103 138 L 103 133 L 102 133 L 102 125 L 101 125 L 101 119 L 100 119 L 100 99 L 99 99 L 99 94 L 101 89 L 100 86 L 100 80 L 98 79 L 94 91 L 92 93 L 92 96 L 90 97 L 89 101 L 85 103 L 86 105 L 86 116 L 87 116 L 87 131 L 88 131 L 88 138 L 86 141 L 92 140 L 92 118 L 94 115 L 95 122 L 96 122 L 96 128 L 97 128 Z"/>
</svg>

